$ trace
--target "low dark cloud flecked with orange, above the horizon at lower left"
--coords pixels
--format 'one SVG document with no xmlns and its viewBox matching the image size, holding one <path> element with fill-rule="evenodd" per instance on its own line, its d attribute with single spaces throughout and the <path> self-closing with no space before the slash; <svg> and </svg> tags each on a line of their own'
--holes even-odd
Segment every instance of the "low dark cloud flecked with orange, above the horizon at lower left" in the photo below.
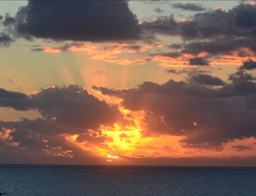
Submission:
<svg viewBox="0 0 256 196">
<path fill-rule="evenodd" d="M 70 127 L 57 125 L 54 121 L 46 119 L 0 122 L 0 126 L 0 134 L 4 135 L 4 140 L 3 137 L 0 138 L 0 154 L 5 155 L 7 160 L 3 161 L 6 163 L 74 164 L 80 162 L 81 164 L 94 162 L 94 154 L 69 142 L 63 134 L 75 132 L 87 134 L 88 130 L 73 132 Z M 96 144 L 92 140 L 87 142 L 89 145 Z"/>
</svg>

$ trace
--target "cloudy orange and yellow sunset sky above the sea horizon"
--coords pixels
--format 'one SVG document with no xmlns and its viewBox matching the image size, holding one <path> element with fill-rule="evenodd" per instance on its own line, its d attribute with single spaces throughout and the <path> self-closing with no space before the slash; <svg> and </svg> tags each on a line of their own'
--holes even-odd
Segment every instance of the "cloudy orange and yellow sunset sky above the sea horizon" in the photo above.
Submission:
<svg viewBox="0 0 256 196">
<path fill-rule="evenodd" d="M 256 166 L 255 33 L 255 1 L 1 1 L 0 164 Z"/>
</svg>

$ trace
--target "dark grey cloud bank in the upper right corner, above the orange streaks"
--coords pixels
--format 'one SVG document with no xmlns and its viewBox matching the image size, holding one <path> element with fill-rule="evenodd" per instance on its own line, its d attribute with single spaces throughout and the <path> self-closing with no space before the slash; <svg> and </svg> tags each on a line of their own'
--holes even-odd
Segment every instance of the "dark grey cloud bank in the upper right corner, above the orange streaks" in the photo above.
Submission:
<svg viewBox="0 0 256 196">
<path fill-rule="evenodd" d="M 184 6 L 180 3 L 174 5 Z M 256 5 L 243 3 L 227 12 L 217 9 L 181 21 L 172 15 L 142 22 L 140 26 L 153 35 L 180 36 L 184 41 L 189 40 L 168 45 L 170 49 L 181 49 L 181 54 L 197 56 L 207 53 L 209 58 L 235 53 L 239 57 L 253 58 L 256 52 L 255 11 Z"/>
</svg>

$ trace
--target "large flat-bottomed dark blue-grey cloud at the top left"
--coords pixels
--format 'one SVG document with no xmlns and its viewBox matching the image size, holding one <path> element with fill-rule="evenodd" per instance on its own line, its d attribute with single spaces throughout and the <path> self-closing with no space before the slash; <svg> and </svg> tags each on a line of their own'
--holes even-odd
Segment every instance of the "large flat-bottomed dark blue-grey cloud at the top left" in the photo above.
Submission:
<svg viewBox="0 0 256 196">
<path fill-rule="evenodd" d="M 29 1 L 14 18 L 3 24 L 15 25 L 15 33 L 27 39 L 94 41 L 140 39 L 136 16 L 126 1 Z"/>
</svg>

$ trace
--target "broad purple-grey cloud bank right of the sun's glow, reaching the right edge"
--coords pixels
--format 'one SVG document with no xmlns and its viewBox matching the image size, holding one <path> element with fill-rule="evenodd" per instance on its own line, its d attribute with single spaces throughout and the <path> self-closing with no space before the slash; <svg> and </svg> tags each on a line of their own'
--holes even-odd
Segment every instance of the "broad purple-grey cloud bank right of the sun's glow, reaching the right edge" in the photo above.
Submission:
<svg viewBox="0 0 256 196">
<path fill-rule="evenodd" d="M 98 89 L 123 99 L 121 104 L 126 109 L 145 111 L 141 122 L 145 126 L 144 136 L 183 136 L 180 142 L 184 148 L 221 150 L 229 141 L 256 136 L 256 83 L 228 84 L 204 74 L 194 74 L 193 79 L 198 82 L 170 79 L 164 84 L 144 82 L 137 88 L 123 90 Z"/>
</svg>

